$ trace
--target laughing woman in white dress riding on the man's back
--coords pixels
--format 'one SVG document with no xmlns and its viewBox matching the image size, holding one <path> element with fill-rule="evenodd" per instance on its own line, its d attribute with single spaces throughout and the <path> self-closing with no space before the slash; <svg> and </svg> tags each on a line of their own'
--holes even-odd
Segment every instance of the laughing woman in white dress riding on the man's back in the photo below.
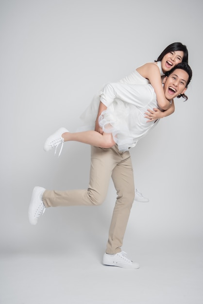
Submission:
<svg viewBox="0 0 203 304">
<path fill-rule="evenodd" d="M 129 76 L 121 79 L 114 85 L 107 84 L 104 86 L 82 115 L 84 123 L 86 125 L 88 124 L 88 127 L 85 129 L 94 128 L 95 131 L 70 134 L 63 128 L 57 131 L 56 135 L 53 136 L 53 140 L 52 135 L 47 139 L 44 150 L 46 152 L 50 151 L 53 147 L 57 147 L 60 143 L 69 140 L 75 140 L 101 148 L 111 148 L 117 143 L 120 151 L 127 151 L 130 147 L 134 147 L 134 138 L 138 136 L 136 130 L 132 129 L 133 121 L 136 119 L 137 113 L 137 111 L 134 110 L 135 107 L 131 105 L 134 100 L 134 84 L 142 85 L 151 83 L 156 93 L 158 107 L 151 109 L 145 108 L 145 112 L 142 113 L 143 115 L 145 114 L 145 118 L 150 119 L 148 122 L 152 126 L 152 121 L 156 120 L 158 122 L 158 118 L 169 116 L 174 112 L 174 101 L 171 100 L 169 102 L 165 98 L 162 85 L 163 76 L 169 73 L 177 64 L 187 61 L 188 51 L 186 46 L 180 42 L 170 44 L 155 62 L 147 63 L 137 68 Z M 126 93 L 126 90 L 128 90 L 129 94 Z M 119 98 L 119 100 L 116 98 Z M 109 99 L 111 102 L 109 102 Z M 99 110 L 97 110 L 98 106 Z M 140 105 L 138 106 L 140 107 Z M 97 114 L 96 111 L 98 111 Z M 96 131 L 99 134 L 96 133 Z M 63 133 L 60 134 L 60 132 Z M 142 137 L 143 135 L 144 134 L 140 136 Z M 60 153 L 61 151 L 59 155 Z"/>
</svg>

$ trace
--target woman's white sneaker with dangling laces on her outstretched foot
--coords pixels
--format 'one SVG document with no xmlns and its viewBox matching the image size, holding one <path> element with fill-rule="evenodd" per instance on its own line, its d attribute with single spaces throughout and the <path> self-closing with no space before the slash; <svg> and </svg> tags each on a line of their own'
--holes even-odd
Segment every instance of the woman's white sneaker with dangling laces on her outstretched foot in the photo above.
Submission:
<svg viewBox="0 0 203 304">
<path fill-rule="evenodd" d="M 69 131 L 66 128 L 60 128 L 56 132 L 51 134 L 45 141 L 44 151 L 48 152 L 48 151 L 51 151 L 51 149 L 53 149 L 54 147 L 56 147 L 55 153 L 54 153 L 54 155 L 55 155 L 58 145 L 62 144 L 61 150 L 58 155 L 58 156 L 60 156 L 61 151 L 63 149 L 63 145 L 64 145 L 64 138 L 62 137 L 62 134 L 65 132 L 69 132 Z"/>
</svg>

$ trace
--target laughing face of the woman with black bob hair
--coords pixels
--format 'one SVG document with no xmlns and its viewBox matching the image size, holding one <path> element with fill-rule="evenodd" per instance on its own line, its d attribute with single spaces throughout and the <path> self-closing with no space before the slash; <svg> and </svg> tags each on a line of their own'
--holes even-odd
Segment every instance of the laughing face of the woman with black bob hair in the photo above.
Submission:
<svg viewBox="0 0 203 304">
<path fill-rule="evenodd" d="M 184 56 L 183 51 L 171 51 L 167 53 L 162 61 L 161 67 L 164 73 L 171 70 L 171 68 L 177 66 L 178 63 L 182 62 Z"/>
</svg>

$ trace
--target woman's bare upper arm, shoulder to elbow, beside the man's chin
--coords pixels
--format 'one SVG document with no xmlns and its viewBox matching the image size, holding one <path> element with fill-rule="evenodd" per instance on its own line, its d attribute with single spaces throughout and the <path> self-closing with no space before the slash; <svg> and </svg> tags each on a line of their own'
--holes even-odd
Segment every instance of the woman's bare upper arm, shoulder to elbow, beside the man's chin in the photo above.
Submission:
<svg viewBox="0 0 203 304">
<path fill-rule="evenodd" d="M 147 78 L 152 84 L 156 93 L 159 108 L 162 110 L 168 110 L 171 104 L 165 97 L 158 66 L 154 63 L 146 63 L 136 70 L 142 77 Z"/>
</svg>

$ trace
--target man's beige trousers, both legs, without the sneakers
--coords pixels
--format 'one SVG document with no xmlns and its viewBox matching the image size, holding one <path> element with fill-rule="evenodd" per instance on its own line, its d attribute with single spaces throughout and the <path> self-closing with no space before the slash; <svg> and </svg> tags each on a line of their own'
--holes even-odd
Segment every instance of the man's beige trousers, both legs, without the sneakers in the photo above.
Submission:
<svg viewBox="0 0 203 304">
<path fill-rule="evenodd" d="M 134 174 L 130 153 L 118 151 L 117 145 L 103 149 L 91 147 L 91 169 L 88 189 L 46 190 L 42 200 L 46 207 L 100 205 L 107 194 L 110 178 L 117 190 L 106 253 L 121 251 L 123 237 L 134 201 Z"/>
</svg>

